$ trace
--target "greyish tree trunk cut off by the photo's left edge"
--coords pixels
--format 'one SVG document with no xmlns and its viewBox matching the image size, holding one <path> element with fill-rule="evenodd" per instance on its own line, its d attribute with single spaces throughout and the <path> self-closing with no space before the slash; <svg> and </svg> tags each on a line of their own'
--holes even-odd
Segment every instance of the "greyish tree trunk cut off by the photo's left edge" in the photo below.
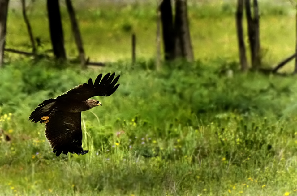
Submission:
<svg viewBox="0 0 297 196">
<path fill-rule="evenodd" d="M 9 0 L 0 0 L 0 68 L 3 67 Z"/>
</svg>

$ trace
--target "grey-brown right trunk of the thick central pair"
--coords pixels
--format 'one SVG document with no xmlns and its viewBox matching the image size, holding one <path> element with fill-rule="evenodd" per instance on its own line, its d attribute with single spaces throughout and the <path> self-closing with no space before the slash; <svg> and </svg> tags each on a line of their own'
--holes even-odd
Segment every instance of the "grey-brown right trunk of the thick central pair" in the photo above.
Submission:
<svg viewBox="0 0 297 196">
<path fill-rule="evenodd" d="M 194 60 L 191 36 L 187 16 L 187 0 L 175 0 L 175 54 L 186 58 L 188 61 Z"/>
</svg>

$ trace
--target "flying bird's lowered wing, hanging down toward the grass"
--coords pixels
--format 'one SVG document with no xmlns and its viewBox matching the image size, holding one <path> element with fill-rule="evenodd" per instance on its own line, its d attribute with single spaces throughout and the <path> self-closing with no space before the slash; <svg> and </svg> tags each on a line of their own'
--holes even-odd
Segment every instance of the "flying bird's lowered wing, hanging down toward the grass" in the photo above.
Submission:
<svg viewBox="0 0 297 196">
<path fill-rule="evenodd" d="M 80 114 L 81 112 L 70 113 L 54 109 L 49 115 L 49 121 L 45 124 L 45 136 L 56 156 L 62 152 L 66 155 L 68 152 L 76 154 L 88 152 L 83 150 L 81 144 L 83 134 Z"/>
</svg>

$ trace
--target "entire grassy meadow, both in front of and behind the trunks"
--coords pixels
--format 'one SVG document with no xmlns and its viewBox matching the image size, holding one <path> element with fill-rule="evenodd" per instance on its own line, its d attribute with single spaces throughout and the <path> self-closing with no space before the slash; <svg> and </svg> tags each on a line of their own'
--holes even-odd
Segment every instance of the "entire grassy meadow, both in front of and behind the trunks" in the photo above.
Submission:
<svg viewBox="0 0 297 196">
<path fill-rule="evenodd" d="M 85 45 L 86 52 L 110 62 L 105 67 L 80 70 L 7 55 L 11 62 L 0 70 L 0 195 L 297 195 L 296 76 L 239 71 L 232 6 L 189 8 L 191 25 L 203 27 L 192 28 L 197 60 L 162 63 L 159 71 L 155 27 L 149 25 L 155 20 L 153 4 L 105 6 L 77 11 L 86 21 L 80 25 L 84 40 L 93 44 Z M 267 66 L 294 51 L 290 9 L 263 8 Z M 13 34 L 21 31 L 20 13 L 11 11 L 9 17 L 15 23 L 9 24 L 7 45 L 28 49 L 28 37 Z M 131 29 L 121 28 L 125 17 L 139 32 L 134 65 Z M 33 21 L 37 35 L 48 40 L 41 17 L 32 17 L 32 26 Z M 283 25 L 269 26 L 272 21 Z M 68 55 L 75 56 L 67 28 L 65 36 Z M 40 50 L 46 49 L 44 42 Z M 82 113 L 83 147 L 90 151 L 56 157 L 44 125 L 28 116 L 43 100 L 108 72 L 121 75 L 118 90 L 95 97 L 103 106 Z"/>
</svg>

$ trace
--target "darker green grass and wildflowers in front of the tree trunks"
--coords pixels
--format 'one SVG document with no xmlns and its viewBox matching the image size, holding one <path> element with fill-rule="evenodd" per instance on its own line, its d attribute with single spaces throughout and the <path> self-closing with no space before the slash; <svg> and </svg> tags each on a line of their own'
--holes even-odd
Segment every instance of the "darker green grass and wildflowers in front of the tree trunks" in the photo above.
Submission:
<svg viewBox="0 0 297 196">
<path fill-rule="evenodd" d="M 97 97 L 102 107 L 82 113 L 90 152 L 58 158 L 44 126 L 28 116 L 101 70 L 45 61 L 7 66 L 0 127 L 11 141 L 2 136 L 0 143 L 2 194 L 294 195 L 296 79 L 237 71 L 228 77 L 222 70 L 229 64 L 176 62 L 161 72 L 144 62 L 134 69 L 110 64 L 103 72 L 121 74 L 120 87 Z"/>
</svg>

